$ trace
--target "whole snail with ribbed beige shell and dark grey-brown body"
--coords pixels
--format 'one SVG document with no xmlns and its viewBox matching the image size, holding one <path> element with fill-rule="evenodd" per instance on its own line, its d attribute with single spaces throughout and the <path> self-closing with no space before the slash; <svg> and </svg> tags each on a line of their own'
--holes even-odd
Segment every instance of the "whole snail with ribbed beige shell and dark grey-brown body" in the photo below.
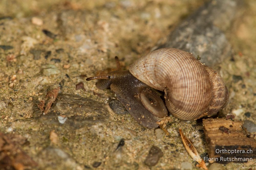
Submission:
<svg viewBox="0 0 256 170">
<path fill-rule="evenodd" d="M 96 86 L 110 87 L 132 117 L 145 127 L 158 127 L 157 122 L 168 116 L 168 111 L 182 120 L 213 115 L 229 101 L 219 73 L 183 50 L 152 51 L 136 60 L 129 70 L 121 70 L 116 60 L 118 70 L 86 80 L 100 79 Z M 154 89 L 164 91 L 165 102 Z"/>
</svg>

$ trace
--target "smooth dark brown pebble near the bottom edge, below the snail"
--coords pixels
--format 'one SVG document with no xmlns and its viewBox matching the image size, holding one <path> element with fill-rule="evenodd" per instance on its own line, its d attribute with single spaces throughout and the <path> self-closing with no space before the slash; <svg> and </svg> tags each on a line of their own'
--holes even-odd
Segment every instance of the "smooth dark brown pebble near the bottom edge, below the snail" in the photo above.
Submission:
<svg viewBox="0 0 256 170">
<path fill-rule="evenodd" d="M 154 166 L 157 164 L 157 162 L 162 156 L 163 156 L 162 150 L 156 146 L 152 146 L 145 159 L 145 164 L 148 166 Z"/>
</svg>

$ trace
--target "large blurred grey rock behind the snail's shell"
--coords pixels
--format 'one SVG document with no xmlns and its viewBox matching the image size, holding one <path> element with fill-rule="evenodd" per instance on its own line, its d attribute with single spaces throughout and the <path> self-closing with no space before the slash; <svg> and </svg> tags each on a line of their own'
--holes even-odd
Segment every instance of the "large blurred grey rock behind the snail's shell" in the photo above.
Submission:
<svg viewBox="0 0 256 170">
<path fill-rule="evenodd" d="M 230 27 L 236 17 L 239 0 L 215 0 L 206 3 L 183 21 L 159 48 L 178 48 L 213 67 L 231 56 L 231 45 L 221 30 Z M 217 26 L 216 26 L 217 25 Z M 220 29 L 221 28 L 221 29 Z"/>
</svg>

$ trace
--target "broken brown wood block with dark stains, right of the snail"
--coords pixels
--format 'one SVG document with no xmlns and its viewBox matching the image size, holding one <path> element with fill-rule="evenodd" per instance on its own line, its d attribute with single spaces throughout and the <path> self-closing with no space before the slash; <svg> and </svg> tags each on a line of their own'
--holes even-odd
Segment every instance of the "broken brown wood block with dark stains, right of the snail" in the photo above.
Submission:
<svg viewBox="0 0 256 170">
<path fill-rule="evenodd" d="M 210 163 L 243 163 L 256 158 L 256 141 L 243 129 L 243 121 L 205 119 L 203 126 Z"/>
</svg>

